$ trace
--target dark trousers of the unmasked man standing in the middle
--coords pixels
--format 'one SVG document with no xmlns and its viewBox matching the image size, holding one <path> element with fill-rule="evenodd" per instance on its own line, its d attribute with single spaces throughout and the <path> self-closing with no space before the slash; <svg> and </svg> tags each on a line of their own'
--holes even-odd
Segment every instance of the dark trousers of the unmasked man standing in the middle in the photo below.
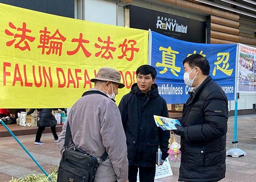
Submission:
<svg viewBox="0 0 256 182">
<path fill-rule="evenodd" d="M 128 168 L 129 182 L 137 182 L 138 168 L 139 168 L 139 182 L 154 182 L 155 166 L 154 167 L 129 166 Z"/>
</svg>

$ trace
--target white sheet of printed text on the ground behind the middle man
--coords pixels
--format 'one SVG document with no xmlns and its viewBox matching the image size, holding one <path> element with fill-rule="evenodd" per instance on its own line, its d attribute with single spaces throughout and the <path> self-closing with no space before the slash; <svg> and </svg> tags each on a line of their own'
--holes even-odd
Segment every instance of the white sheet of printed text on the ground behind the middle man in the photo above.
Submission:
<svg viewBox="0 0 256 182">
<path fill-rule="evenodd" d="M 156 166 L 155 180 L 173 175 L 172 170 L 171 170 L 171 165 L 170 165 L 168 158 L 165 159 L 165 162 L 163 163 L 162 166 L 157 166 L 157 165 L 155 165 L 155 166 Z M 138 169 L 138 174 L 137 174 L 137 182 L 139 182 L 139 169 Z"/>
</svg>

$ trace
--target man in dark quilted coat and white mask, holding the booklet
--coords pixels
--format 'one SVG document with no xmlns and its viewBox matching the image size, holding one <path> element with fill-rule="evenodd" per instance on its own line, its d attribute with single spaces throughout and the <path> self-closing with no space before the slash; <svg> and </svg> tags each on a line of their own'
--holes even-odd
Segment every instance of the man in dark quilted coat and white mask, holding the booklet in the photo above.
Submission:
<svg viewBox="0 0 256 182">
<path fill-rule="evenodd" d="M 181 124 L 179 181 L 216 182 L 225 177 L 228 100 L 221 87 L 208 76 L 209 62 L 194 54 L 183 61 L 184 82 L 194 87 L 184 105 Z"/>
</svg>

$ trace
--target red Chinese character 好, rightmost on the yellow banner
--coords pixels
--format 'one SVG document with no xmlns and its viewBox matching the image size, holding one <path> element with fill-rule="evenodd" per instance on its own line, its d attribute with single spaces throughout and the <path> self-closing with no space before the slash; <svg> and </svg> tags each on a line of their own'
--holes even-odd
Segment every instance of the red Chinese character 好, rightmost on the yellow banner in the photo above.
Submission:
<svg viewBox="0 0 256 182">
<path fill-rule="evenodd" d="M 128 43 L 126 42 L 127 42 L 127 39 L 123 41 L 123 44 L 119 44 L 118 46 L 119 48 L 121 47 L 122 49 L 121 51 L 123 53 L 122 56 L 118 56 L 118 59 L 123 59 L 123 57 L 125 56 L 127 61 L 133 61 L 134 51 L 139 52 L 139 48 L 133 47 L 133 45 L 136 45 L 137 42 L 135 40 L 128 40 Z M 128 44 L 130 44 L 130 47 L 128 47 Z M 130 57 L 127 56 L 128 51 L 131 51 Z"/>
</svg>

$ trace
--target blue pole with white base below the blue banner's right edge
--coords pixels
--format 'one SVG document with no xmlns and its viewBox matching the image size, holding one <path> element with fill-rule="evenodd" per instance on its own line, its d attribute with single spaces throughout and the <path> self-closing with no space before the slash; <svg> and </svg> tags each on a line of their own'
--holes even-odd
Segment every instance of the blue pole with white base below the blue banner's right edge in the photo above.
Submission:
<svg viewBox="0 0 256 182">
<path fill-rule="evenodd" d="M 234 118 L 234 139 L 233 139 L 233 148 L 229 149 L 227 151 L 226 156 L 231 157 L 240 157 L 240 156 L 246 156 L 246 153 L 242 151 L 241 149 L 237 148 L 237 100 L 238 100 L 238 93 L 236 93 L 236 99 L 235 99 L 235 118 Z"/>
</svg>

